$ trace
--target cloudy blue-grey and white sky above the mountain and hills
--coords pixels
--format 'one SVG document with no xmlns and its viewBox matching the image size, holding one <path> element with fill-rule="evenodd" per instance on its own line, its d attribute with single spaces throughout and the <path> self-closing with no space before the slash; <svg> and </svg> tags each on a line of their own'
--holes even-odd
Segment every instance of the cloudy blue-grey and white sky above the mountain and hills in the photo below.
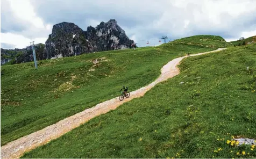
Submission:
<svg viewBox="0 0 256 159">
<path fill-rule="evenodd" d="M 197 34 L 226 41 L 256 35 L 256 0 L 1 0 L 1 48 L 44 43 L 52 26 L 72 22 L 83 30 L 116 19 L 138 46 Z M 167 40 L 167 41 L 168 41 Z"/>
</svg>

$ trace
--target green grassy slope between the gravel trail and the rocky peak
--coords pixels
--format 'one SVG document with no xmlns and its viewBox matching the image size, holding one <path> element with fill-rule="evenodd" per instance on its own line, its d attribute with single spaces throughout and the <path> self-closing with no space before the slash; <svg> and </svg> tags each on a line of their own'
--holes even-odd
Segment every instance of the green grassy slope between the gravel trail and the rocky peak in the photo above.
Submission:
<svg viewBox="0 0 256 159">
<path fill-rule="evenodd" d="M 154 81 L 181 53 L 214 50 L 166 44 L 1 67 L 1 145 Z M 184 55 L 184 54 L 183 54 Z M 98 59 L 98 63 L 93 61 Z"/>
</svg>

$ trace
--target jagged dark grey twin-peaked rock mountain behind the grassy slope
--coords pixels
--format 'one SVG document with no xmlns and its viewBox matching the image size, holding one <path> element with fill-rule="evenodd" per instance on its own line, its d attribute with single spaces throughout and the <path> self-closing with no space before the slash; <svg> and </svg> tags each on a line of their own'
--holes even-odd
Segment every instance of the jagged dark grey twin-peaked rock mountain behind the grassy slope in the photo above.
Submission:
<svg viewBox="0 0 256 159">
<path fill-rule="evenodd" d="M 62 22 L 53 26 L 52 34 L 45 42 L 44 59 L 76 56 L 84 53 L 100 52 L 113 49 L 131 48 L 125 31 L 115 19 L 101 22 L 96 28 L 89 26 L 83 31 L 74 23 Z"/>
</svg>

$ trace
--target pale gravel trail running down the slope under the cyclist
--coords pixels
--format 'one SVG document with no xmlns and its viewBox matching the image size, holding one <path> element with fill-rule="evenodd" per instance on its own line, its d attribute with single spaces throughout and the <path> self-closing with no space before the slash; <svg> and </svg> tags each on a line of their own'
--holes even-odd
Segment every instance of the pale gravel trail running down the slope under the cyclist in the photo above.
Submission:
<svg viewBox="0 0 256 159">
<path fill-rule="evenodd" d="M 219 48 L 217 50 L 213 50 L 211 52 L 217 52 L 219 50 L 223 50 L 225 48 Z M 205 53 L 211 53 L 205 52 Z M 205 53 L 193 54 L 190 56 L 197 56 Z M 26 151 L 32 150 L 46 144 L 47 142 L 59 138 L 61 135 L 71 131 L 72 129 L 79 127 L 81 124 L 84 124 L 88 120 L 100 115 L 104 114 L 110 110 L 116 109 L 119 105 L 122 105 L 125 102 L 129 102 L 133 98 L 139 98 L 144 96 L 144 94 L 153 88 L 159 82 L 165 81 L 168 78 L 172 78 L 180 73 L 179 69 L 176 67 L 182 59 L 188 56 L 183 56 L 176 58 L 170 62 L 168 62 L 161 69 L 161 75 L 151 84 L 144 86 L 136 91 L 130 92 L 130 97 L 125 98 L 123 101 L 119 100 L 119 97 L 110 99 L 103 103 L 99 103 L 90 109 L 84 110 L 80 113 L 72 115 L 66 119 L 63 119 L 56 124 L 51 126 L 47 126 L 40 131 L 34 132 L 32 134 L 23 136 L 15 141 L 11 141 L 4 146 L 1 147 L 1 158 L 18 158 L 22 156 Z"/>
</svg>

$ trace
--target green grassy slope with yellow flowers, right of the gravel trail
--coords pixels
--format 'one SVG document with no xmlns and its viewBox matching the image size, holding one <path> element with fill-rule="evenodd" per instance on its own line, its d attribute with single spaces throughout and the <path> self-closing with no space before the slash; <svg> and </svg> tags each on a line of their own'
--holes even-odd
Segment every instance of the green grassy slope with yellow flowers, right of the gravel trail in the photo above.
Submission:
<svg viewBox="0 0 256 159">
<path fill-rule="evenodd" d="M 188 57 L 180 69 L 144 97 L 23 157 L 255 158 L 255 148 L 226 142 L 256 138 L 256 44 Z"/>
</svg>

